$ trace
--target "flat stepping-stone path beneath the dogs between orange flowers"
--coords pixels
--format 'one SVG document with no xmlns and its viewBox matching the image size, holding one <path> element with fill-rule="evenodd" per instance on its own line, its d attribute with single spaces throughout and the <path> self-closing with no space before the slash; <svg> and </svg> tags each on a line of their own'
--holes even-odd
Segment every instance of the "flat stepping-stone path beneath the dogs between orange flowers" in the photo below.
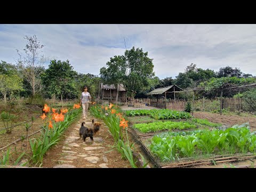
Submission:
<svg viewBox="0 0 256 192">
<path fill-rule="evenodd" d="M 94 120 L 97 121 L 95 118 Z M 53 168 L 75 168 L 76 166 L 72 165 L 72 163 L 74 159 L 78 158 L 83 159 L 83 161 L 87 161 L 87 167 L 98 165 L 97 167 L 99 168 L 108 168 L 108 159 L 106 155 L 104 155 L 105 151 L 108 149 L 102 146 L 103 139 L 97 135 L 93 137 L 93 142 L 91 142 L 90 138 L 86 138 L 85 142 L 80 139 L 79 129 L 82 122 L 85 122 L 84 126 L 90 128 L 92 125 L 91 116 L 88 115 L 86 119 L 81 118 L 77 124 L 71 128 L 72 131 L 64 141 L 65 144 L 62 147 L 63 155 L 58 160 L 58 163 L 60 164 Z M 101 129 L 106 129 L 106 127 L 107 126 L 103 124 Z M 83 153 L 79 153 L 78 151 L 83 151 Z"/>
</svg>

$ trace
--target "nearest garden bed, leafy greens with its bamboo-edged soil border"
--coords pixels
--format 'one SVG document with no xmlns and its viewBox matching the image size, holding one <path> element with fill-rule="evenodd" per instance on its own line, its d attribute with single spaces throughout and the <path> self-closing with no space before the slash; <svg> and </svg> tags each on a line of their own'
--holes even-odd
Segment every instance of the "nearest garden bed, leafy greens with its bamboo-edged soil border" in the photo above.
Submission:
<svg viewBox="0 0 256 192">
<path fill-rule="evenodd" d="M 137 139 L 156 167 L 214 165 L 256 157 L 256 135 L 248 126 L 166 132 Z"/>
</svg>

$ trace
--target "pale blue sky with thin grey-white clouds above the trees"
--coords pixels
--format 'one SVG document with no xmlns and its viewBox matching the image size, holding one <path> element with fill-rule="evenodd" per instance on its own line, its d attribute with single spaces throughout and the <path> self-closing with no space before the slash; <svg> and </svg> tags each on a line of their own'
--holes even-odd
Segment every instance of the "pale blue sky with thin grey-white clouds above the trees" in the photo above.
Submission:
<svg viewBox="0 0 256 192">
<path fill-rule="evenodd" d="M 237 67 L 256 75 L 255 24 L 0 24 L 0 61 L 16 64 L 27 40 L 36 35 L 45 68 L 50 60 L 69 60 L 82 74 L 101 67 L 126 49 L 142 49 L 153 59 L 155 75 L 175 78 L 191 63 L 218 71 Z M 125 41 L 124 41 L 125 39 Z"/>
</svg>

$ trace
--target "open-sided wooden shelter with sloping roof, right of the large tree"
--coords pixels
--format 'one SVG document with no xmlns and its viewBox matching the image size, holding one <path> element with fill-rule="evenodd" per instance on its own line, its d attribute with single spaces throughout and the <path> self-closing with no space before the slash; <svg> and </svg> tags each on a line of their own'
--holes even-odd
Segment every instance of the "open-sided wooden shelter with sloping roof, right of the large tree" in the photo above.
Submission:
<svg viewBox="0 0 256 192">
<path fill-rule="evenodd" d="M 170 85 L 170 86 L 166 86 L 166 87 L 160 87 L 160 88 L 157 88 L 153 91 L 150 91 L 149 93 L 147 93 L 147 95 L 150 95 L 150 96 L 157 95 L 156 106 L 151 105 L 151 97 L 150 97 L 150 105 L 154 106 L 154 107 L 158 107 L 159 96 L 161 96 L 161 94 L 163 94 L 164 98 L 165 98 L 165 108 L 166 108 L 166 94 L 170 95 L 170 96 L 173 95 L 174 102 L 175 102 L 175 92 L 178 92 L 178 91 L 183 91 L 183 89 L 181 89 L 177 85 Z"/>
</svg>

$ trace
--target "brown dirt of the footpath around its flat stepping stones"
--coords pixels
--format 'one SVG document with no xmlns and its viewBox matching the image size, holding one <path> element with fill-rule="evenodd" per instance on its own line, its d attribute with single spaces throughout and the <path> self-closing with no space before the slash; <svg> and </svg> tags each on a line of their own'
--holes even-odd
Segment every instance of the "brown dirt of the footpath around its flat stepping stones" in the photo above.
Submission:
<svg viewBox="0 0 256 192">
<path fill-rule="evenodd" d="M 84 119 L 78 119 L 78 121 L 76 121 L 75 123 L 73 123 L 68 130 L 65 131 L 61 141 L 59 141 L 59 143 L 57 145 L 55 145 L 54 147 L 52 147 L 47 153 L 46 156 L 43 159 L 43 165 L 42 167 L 54 167 L 55 165 L 59 165 L 60 162 L 58 161 L 59 159 L 61 159 L 61 157 L 63 157 L 65 154 L 63 153 L 63 146 L 66 147 L 70 147 L 67 145 L 67 143 L 65 143 L 65 139 L 67 137 L 69 137 L 70 135 L 74 135 L 74 132 L 76 133 L 76 136 L 79 137 L 79 130 L 77 130 L 79 127 L 81 127 L 82 122 L 91 122 L 92 121 L 92 116 L 88 115 L 87 118 Z M 127 160 L 123 160 L 121 158 L 121 154 L 118 153 L 118 151 L 114 148 L 112 148 L 111 146 L 114 146 L 114 139 L 111 136 L 111 134 L 108 132 L 108 128 L 107 126 L 100 121 L 99 119 L 95 119 L 94 121 L 98 121 L 100 123 L 102 123 L 102 126 L 100 127 L 100 131 L 99 133 L 97 133 L 97 135 L 94 137 L 98 137 L 98 138 L 102 138 L 103 142 L 89 142 L 86 141 L 85 143 L 83 143 L 83 141 L 81 139 L 77 139 L 74 141 L 74 143 L 77 143 L 79 145 L 79 147 L 71 147 L 71 150 L 76 152 L 76 154 L 88 154 L 83 148 L 84 147 L 105 147 L 103 150 L 99 150 L 97 149 L 96 151 L 91 151 L 91 153 L 89 153 L 92 156 L 98 156 L 100 159 L 97 163 L 90 163 L 89 161 L 87 161 L 84 157 L 78 157 L 77 159 L 72 159 L 72 160 L 65 160 L 65 161 L 70 161 L 72 163 L 68 163 L 70 165 L 74 165 L 75 167 L 79 167 L 79 168 L 100 168 L 99 164 L 102 163 L 106 163 L 103 161 L 103 155 L 105 155 L 107 157 L 107 163 L 106 166 L 109 168 L 129 168 L 131 167 L 129 161 Z M 76 128 L 76 129 L 75 129 Z M 96 155 L 95 155 L 96 154 Z M 64 159 L 62 159 L 64 160 Z M 67 164 L 67 163 L 65 163 Z"/>
</svg>

